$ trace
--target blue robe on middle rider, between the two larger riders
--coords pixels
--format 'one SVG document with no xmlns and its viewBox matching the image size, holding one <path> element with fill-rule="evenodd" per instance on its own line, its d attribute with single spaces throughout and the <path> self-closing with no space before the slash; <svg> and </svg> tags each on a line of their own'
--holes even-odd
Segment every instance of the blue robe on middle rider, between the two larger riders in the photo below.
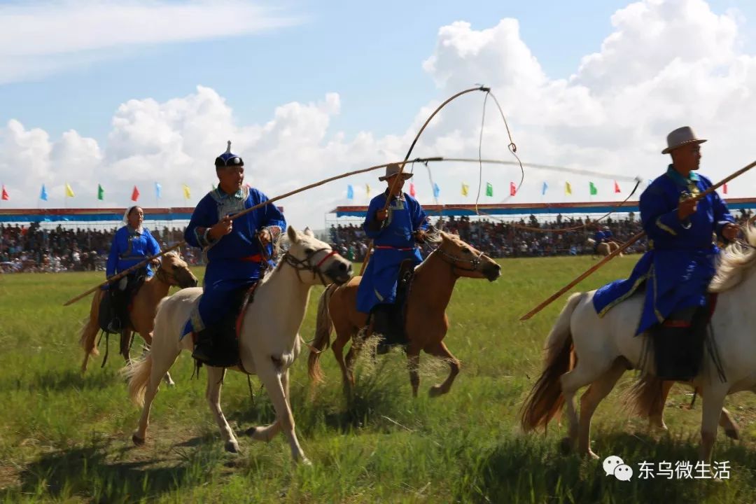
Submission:
<svg viewBox="0 0 756 504">
<path fill-rule="evenodd" d="M 392 198 L 386 221 L 376 221 L 376 212 L 386 205 L 388 193 L 386 190 L 370 200 L 362 225 L 373 239 L 373 255 L 357 291 L 357 309 L 366 314 L 375 305 L 396 300 L 399 266 L 404 259 L 412 259 L 415 264 L 423 261 L 413 233 L 428 229 L 426 213 L 417 199 L 402 193 L 399 199 Z"/>
</svg>

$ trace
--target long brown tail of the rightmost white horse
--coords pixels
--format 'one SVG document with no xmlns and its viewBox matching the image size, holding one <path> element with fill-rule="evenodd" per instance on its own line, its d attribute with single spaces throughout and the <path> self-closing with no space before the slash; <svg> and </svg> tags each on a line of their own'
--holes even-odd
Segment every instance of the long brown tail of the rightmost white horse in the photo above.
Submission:
<svg viewBox="0 0 756 504">
<path fill-rule="evenodd" d="M 520 412 L 520 424 L 525 431 L 545 428 L 562 410 L 564 396 L 559 379 L 575 366 L 570 319 L 583 298 L 583 292 L 570 296 L 549 333 L 544 346 L 544 372 L 533 385 Z"/>
</svg>

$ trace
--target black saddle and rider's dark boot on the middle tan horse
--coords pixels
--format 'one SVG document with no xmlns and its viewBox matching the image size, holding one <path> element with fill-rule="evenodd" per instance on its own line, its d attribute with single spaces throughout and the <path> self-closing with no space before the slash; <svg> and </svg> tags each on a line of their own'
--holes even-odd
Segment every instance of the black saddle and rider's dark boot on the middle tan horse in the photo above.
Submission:
<svg viewBox="0 0 756 504">
<path fill-rule="evenodd" d="M 386 354 L 390 348 L 396 345 L 406 346 L 409 344 L 404 326 L 407 322 L 407 299 L 409 299 L 414 274 L 414 261 L 411 259 L 401 261 L 396 286 L 396 301 L 391 305 L 376 305 L 370 312 L 367 323 L 370 325 L 372 320 L 373 334 L 382 336 L 376 348 L 378 354 Z"/>
</svg>

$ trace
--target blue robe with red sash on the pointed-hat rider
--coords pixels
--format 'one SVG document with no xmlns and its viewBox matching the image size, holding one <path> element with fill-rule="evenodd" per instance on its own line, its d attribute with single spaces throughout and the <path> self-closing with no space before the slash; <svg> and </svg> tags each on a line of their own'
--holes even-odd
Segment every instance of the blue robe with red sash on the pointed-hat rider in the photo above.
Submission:
<svg viewBox="0 0 756 504">
<path fill-rule="evenodd" d="M 265 205 L 232 221 L 231 233 L 219 240 L 210 241 L 207 231 L 226 215 L 234 215 L 268 201 L 268 196 L 249 186 L 235 194 L 226 194 L 220 187 L 210 191 L 191 216 L 184 231 L 184 239 L 196 247 L 203 247 L 206 260 L 203 294 L 200 303 L 187 325 L 184 334 L 199 332 L 228 316 L 228 301 L 231 294 L 243 286 L 249 286 L 260 277 L 262 256 L 256 233 L 264 227 L 286 229 L 283 214 L 274 205 Z M 272 246 L 266 246 L 270 257 Z"/>
</svg>

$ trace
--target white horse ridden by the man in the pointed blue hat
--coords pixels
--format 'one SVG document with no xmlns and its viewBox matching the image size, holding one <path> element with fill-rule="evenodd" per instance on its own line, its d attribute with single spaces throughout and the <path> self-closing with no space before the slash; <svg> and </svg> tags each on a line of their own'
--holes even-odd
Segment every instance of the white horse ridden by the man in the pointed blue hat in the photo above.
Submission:
<svg viewBox="0 0 756 504">
<path fill-rule="evenodd" d="M 305 317 L 310 288 L 318 283 L 345 283 L 352 277 L 352 264 L 336 254 L 327 243 L 316 240 L 311 230 L 287 232 L 290 248 L 274 271 L 260 280 L 255 299 L 243 317 L 240 358 L 247 373 L 256 373 L 276 410 L 276 420 L 264 428 L 251 428 L 247 434 L 259 441 L 270 441 L 282 428 L 286 431 L 296 461 L 309 463 L 294 432 L 294 417 L 289 398 L 289 368 L 299 354 L 299 326 Z M 144 444 L 150 405 L 160 385 L 160 377 L 172 366 L 182 350 L 192 350 L 192 339 L 181 337 L 181 329 L 197 304 L 202 289 L 182 289 L 160 302 L 155 317 L 153 344 L 141 359 L 127 366 L 129 397 L 142 406 L 139 427 L 132 435 L 135 444 Z M 234 367 L 242 371 L 239 367 Z M 207 367 L 206 397 L 221 429 L 225 448 L 239 451 L 234 431 L 221 410 L 221 385 L 225 369 Z"/>
</svg>

